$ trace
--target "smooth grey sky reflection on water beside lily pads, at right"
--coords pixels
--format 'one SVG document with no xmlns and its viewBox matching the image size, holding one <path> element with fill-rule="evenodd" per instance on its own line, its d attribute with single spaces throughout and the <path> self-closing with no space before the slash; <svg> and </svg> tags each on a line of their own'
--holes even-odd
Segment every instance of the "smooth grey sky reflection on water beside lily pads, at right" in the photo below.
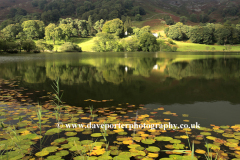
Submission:
<svg viewBox="0 0 240 160">
<path fill-rule="evenodd" d="M 178 117 L 168 116 L 171 123 L 181 124 L 182 120 L 190 120 L 188 124 L 198 122 L 200 126 L 209 127 L 214 125 L 235 125 L 240 124 L 240 105 L 233 105 L 227 101 L 215 102 L 196 102 L 194 104 L 172 104 L 159 105 L 147 104 L 144 108 L 156 109 L 164 107 L 165 111 L 177 113 Z M 183 118 L 182 114 L 189 114 L 189 117 Z"/>
</svg>

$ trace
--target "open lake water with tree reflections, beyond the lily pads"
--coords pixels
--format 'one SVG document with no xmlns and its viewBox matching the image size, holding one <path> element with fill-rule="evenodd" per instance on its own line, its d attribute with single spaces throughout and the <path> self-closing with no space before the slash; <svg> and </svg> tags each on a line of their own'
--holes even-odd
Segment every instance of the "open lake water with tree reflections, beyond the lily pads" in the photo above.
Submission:
<svg viewBox="0 0 240 160">
<path fill-rule="evenodd" d="M 18 80 L 34 102 L 53 92 L 62 100 L 94 108 L 128 103 L 164 107 L 201 126 L 240 123 L 240 56 L 217 53 L 54 53 L 1 55 L 0 78 Z M 4 87 L 4 86 L 3 86 Z M 2 88 L 4 89 L 4 88 Z M 36 92 L 39 91 L 39 92 Z M 111 100 L 108 103 L 84 101 Z M 161 115 L 158 115 L 161 117 Z M 178 117 L 171 123 L 182 123 Z"/>
</svg>

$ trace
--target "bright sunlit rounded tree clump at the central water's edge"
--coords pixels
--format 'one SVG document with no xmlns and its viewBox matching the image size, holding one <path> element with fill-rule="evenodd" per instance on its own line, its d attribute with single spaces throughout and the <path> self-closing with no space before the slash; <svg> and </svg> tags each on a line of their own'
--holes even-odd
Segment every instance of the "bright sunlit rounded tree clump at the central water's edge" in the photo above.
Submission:
<svg viewBox="0 0 240 160">
<path fill-rule="evenodd" d="M 177 50 L 177 47 L 169 42 L 157 41 L 157 38 L 150 31 L 150 26 L 132 28 L 133 33 L 127 38 L 122 38 L 118 34 L 123 30 L 123 23 L 119 19 L 106 22 L 102 30 L 103 32 L 97 34 L 92 48 L 96 52 L 156 52 L 160 48 L 162 51 L 170 52 Z M 120 31 L 118 32 L 118 30 Z"/>
</svg>

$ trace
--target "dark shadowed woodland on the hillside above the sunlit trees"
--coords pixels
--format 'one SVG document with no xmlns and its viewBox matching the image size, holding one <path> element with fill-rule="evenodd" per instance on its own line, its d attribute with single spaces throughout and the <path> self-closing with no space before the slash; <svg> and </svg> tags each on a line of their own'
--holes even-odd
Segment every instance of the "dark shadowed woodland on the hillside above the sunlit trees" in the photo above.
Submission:
<svg viewBox="0 0 240 160">
<path fill-rule="evenodd" d="M 42 20 L 44 22 L 57 22 L 61 16 L 72 16 L 82 20 L 88 20 L 92 17 L 92 21 L 110 20 L 121 18 L 121 16 L 145 15 L 145 10 L 140 6 L 134 6 L 132 0 L 115 1 L 115 0 L 99 0 L 83 2 L 75 2 L 73 0 L 60 0 L 48 3 L 46 0 L 34 0 L 33 7 L 38 7 L 44 12 Z"/>
</svg>

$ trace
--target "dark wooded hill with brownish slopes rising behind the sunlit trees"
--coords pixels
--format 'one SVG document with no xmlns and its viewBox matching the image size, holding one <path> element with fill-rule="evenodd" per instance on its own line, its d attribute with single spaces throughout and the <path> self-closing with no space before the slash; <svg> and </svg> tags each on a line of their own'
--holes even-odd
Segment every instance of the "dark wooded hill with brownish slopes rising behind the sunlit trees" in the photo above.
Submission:
<svg viewBox="0 0 240 160">
<path fill-rule="evenodd" d="M 189 25 L 200 22 L 225 22 L 226 20 L 238 23 L 240 16 L 239 0 L 112 0 L 111 3 L 109 1 L 111 0 L 0 0 L 0 22 L 12 18 L 11 14 L 14 12 L 14 8 L 21 8 L 28 14 L 38 13 L 39 18 L 44 17 L 41 14 L 45 14 L 45 17 L 59 14 L 59 17 L 62 18 L 79 19 L 86 19 L 92 15 L 93 19 L 97 20 L 103 15 L 108 16 L 105 17 L 106 19 L 121 18 L 122 15 L 125 15 L 131 16 L 134 20 L 135 14 L 141 12 L 136 11 L 139 10 L 136 7 L 140 6 L 146 11 L 146 14 L 141 14 L 143 20 L 160 19 L 156 15 L 165 14 L 170 15 L 175 22 L 178 22 L 182 16 L 185 16 L 188 18 Z M 65 5 L 60 5 L 59 2 Z M 131 3 L 133 6 L 129 6 Z M 104 6 L 104 4 L 106 5 Z M 118 6 L 119 4 L 121 6 Z M 118 12 L 114 12 L 114 9 Z M 56 16 L 53 21 L 59 17 Z"/>
</svg>

